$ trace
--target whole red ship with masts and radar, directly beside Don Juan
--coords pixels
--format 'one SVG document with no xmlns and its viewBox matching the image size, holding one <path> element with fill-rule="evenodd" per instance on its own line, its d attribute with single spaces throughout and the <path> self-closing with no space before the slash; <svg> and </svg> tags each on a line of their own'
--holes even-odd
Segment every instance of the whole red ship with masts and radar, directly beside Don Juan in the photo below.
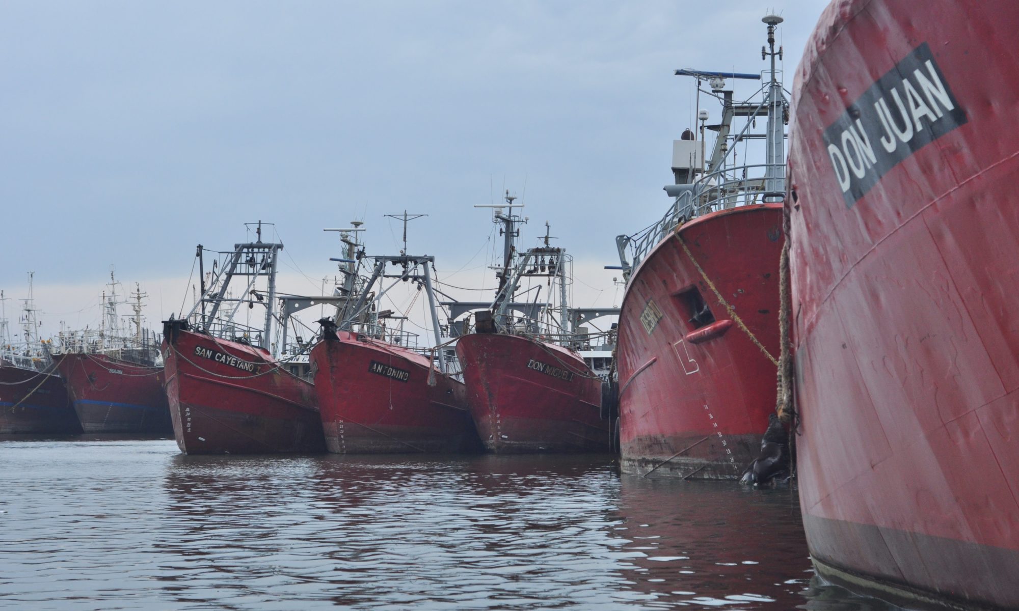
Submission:
<svg viewBox="0 0 1019 611">
<path fill-rule="evenodd" d="M 773 27 L 763 100 L 736 103 L 726 89 L 727 79 L 759 74 L 677 70 L 696 77 L 698 92 L 710 84 L 720 123 L 706 125 L 700 111 L 700 140 L 688 129 L 674 143 L 673 206 L 643 232 L 616 238 L 627 278 L 616 366 L 628 473 L 738 479 L 774 412 L 786 101 Z M 755 132 L 764 118 L 764 133 Z M 705 128 L 716 132 L 706 168 Z M 765 143 L 763 163 L 745 148 L 755 137 Z"/>
</svg>

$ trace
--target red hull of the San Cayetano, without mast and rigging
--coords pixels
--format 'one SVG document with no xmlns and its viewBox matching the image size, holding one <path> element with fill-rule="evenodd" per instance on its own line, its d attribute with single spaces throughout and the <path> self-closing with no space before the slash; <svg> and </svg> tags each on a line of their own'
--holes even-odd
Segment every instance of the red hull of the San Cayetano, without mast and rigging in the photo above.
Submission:
<svg viewBox="0 0 1019 611">
<path fill-rule="evenodd" d="M 164 336 L 166 394 L 181 452 L 325 451 L 313 386 L 265 350 L 180 329 Z"/>
</svg>

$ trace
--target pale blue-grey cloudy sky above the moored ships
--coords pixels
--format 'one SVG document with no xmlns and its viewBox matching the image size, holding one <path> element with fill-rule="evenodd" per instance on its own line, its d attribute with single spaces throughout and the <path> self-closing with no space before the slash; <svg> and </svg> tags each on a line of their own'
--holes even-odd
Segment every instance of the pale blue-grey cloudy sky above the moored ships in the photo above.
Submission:
<svg viewBox="0 0 1019 611">
<path fill-rule="evenodd" d="M 665 212 L 693 126 L 673 70 L 762 70 L 775 12 L 791 89 L 825 4 L 0 1 L 8 317 L 33 271 L 44 329 L 94 325 L 112 265 L 166 318 L 191 303 L 195 245 L 229 249 L 258 220 L 284 243 L 281 288 L 315 293 L 340 254 L 324 227 L 362 220 L 369 254 L 392 254 L 383 215 L 404 210 L 428 215 L 410 251 L 493 286 L 474 206 L 506 189 L 523 246 L 548 221 L 573 254 L 574 304 L 618 306 L 614 237 Z"/>
</svg>

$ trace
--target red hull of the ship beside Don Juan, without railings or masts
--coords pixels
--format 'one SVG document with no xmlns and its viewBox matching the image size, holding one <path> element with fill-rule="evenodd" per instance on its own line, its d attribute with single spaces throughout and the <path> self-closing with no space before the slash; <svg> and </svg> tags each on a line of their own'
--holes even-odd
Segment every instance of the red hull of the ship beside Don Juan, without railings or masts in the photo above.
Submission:
<svg viewBox="0 0 1019 611">
<path fill-rule="evenodd" d="M 730 320 L 694 260 L 777 356 L 782 245 L 782 206 L 745 206 L 683 225 L 634 270 L 616 347 L 624 470 L 738 479 L 757 457 L 775 365 Z M 690 322 L 695 292 L 713 323 Z"/>
</svg>

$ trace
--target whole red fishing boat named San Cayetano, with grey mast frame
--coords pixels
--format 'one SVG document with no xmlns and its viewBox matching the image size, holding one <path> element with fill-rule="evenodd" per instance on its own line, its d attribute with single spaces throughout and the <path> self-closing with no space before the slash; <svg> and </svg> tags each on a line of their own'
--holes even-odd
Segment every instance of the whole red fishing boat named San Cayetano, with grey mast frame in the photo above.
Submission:
<svg viewBox="0 0 1019 611">
<path fill-rule="evenodd" d="M 291 374 L 267 347 L 275 320 L 276 260 L 283 244 L 263 242 L 261 222 L 257 235 L 254 242 L 219 253 L 224 263 L 216 260 L 209 286 L 200 245 L 202 297 L 186 319 L 164 322 L 166 394 L 177 446 L 187 454 L 325 449 L 312 384 Z M 234 277 L 248 281 L 239 297 L 228 296 Z M 260 278 L 267 282 L 265 289 L 256 288 Z M 236 322 L 245 306 L 264 309 L 264 327 Z"/>
</svg>

